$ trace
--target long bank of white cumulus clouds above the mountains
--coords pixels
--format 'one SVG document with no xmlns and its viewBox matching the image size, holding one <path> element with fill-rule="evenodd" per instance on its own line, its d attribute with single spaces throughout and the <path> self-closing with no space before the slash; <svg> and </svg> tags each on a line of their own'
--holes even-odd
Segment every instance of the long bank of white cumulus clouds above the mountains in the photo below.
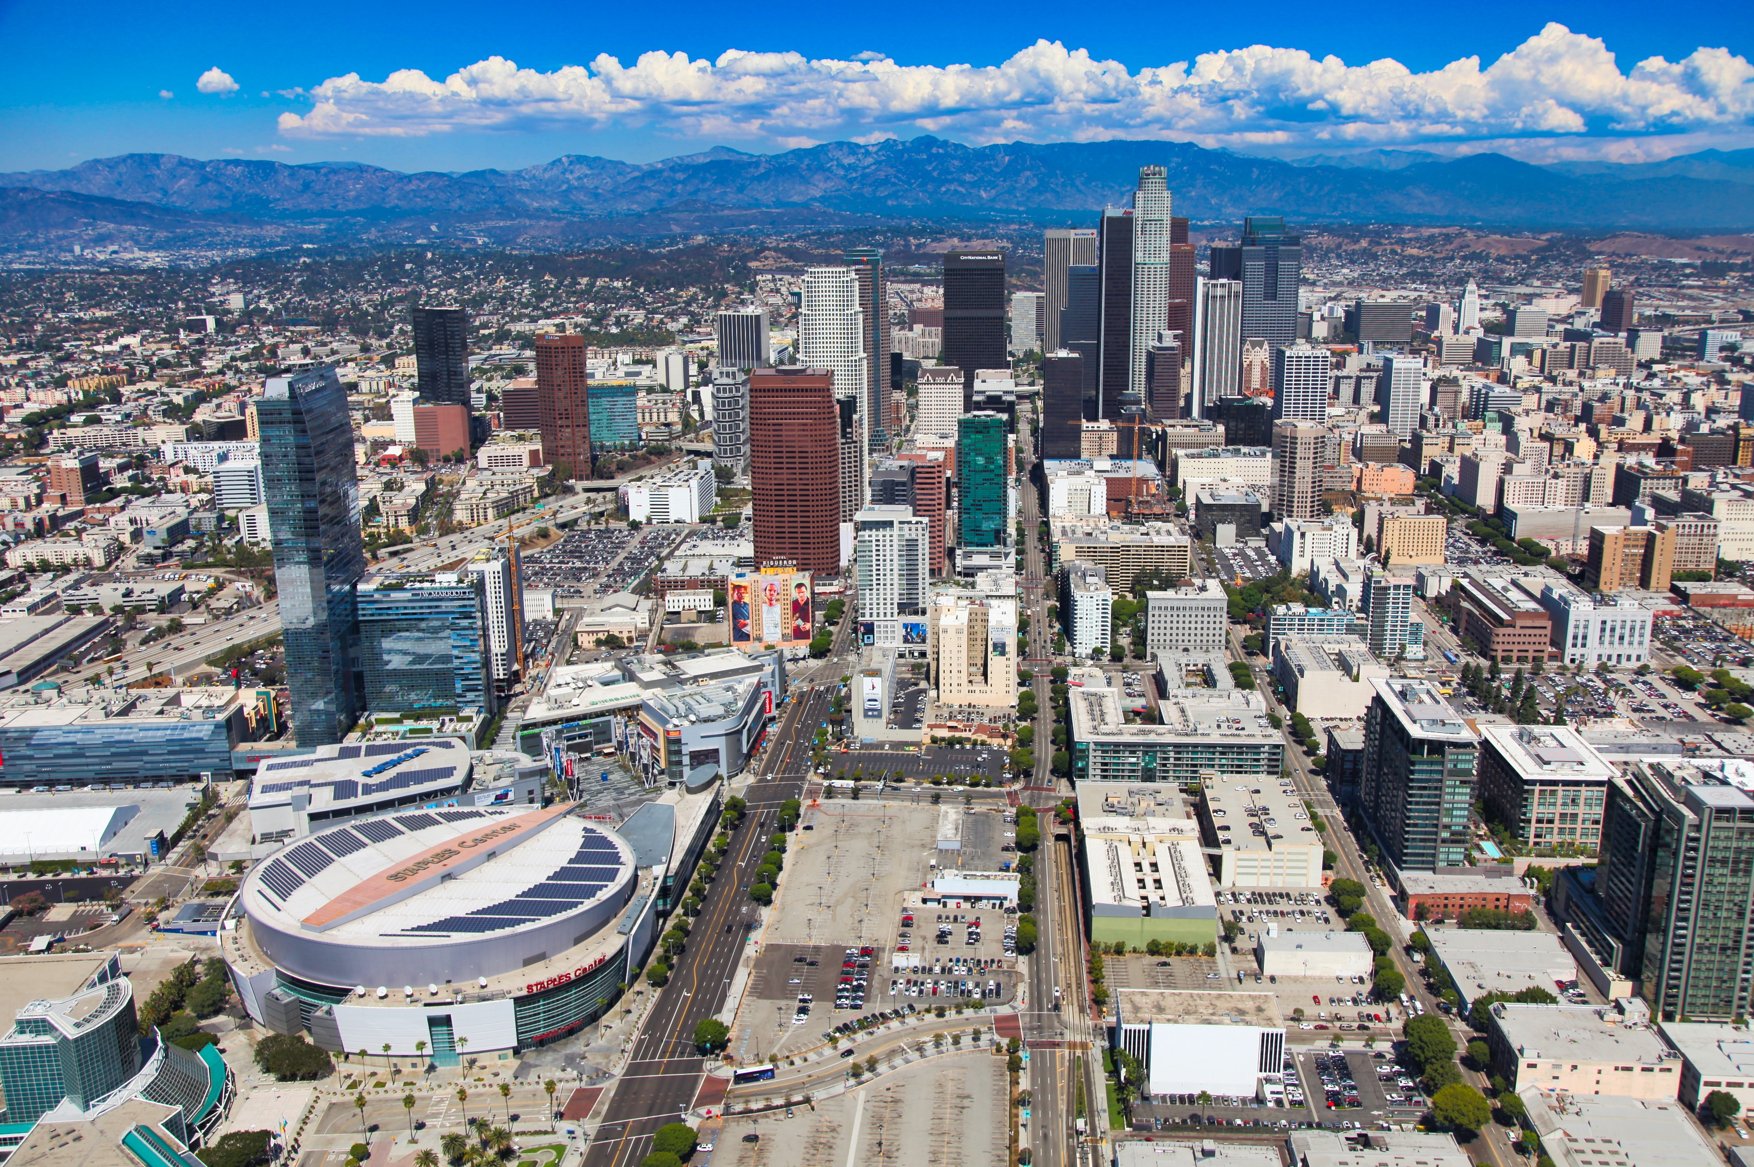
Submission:
<svg viewBox="0 0 1754 1167">
<path fill-rule="evenodd" d="M 232 79 L 219 70 L 202 77 Z M 810 60 L 730 49 L 717 60 L 600 54 L 553 72 L 489 56 L 442 81 L 417 68 L 330 77 L 288 137 L 651 128 L 679 138 L 881 140 L 937 133 L 1010 140 L 1175 138 L 1203 145 L 1321 147 L 1487 142 L 1600 144 L 1712 133 L 1754 137 L 1754 67 L 1728 49 L 1622 70 L 1596 37 L 1547 25 L 1491 65 L 1468 56 L 1415 74 L 1394 60 L 1347 65 L 1249 46 L 1130 68 L 1037 40 L 995 67 L 900 65 L 875 53 Z"/>
</svg>

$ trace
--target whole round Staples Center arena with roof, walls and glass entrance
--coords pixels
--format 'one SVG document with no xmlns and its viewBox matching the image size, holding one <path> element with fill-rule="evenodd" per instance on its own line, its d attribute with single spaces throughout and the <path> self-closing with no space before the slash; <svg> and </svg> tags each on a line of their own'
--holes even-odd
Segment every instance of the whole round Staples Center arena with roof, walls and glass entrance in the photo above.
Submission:
<svg viewBox="0 0 1754 1167">
<path fill-rule="evenodd" d="M 407 1067 L 596 1020 L 651 946 L 663 867 L 568 810 L 395 813 L 258 864 L 221 930 L 249 1015 Z"/>
</svg>

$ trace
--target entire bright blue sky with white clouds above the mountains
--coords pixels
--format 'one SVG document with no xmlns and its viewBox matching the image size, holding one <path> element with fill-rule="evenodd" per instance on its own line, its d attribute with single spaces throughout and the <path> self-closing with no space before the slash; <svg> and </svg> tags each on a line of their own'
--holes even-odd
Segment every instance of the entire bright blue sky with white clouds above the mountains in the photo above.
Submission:
<svg viewBox="0 0 1754 1167">
<path fill-rule="evenodd" d="M 1531 159 L 1754 145 L 1754 5 L 1068 7 L 0 0 L 0 170 L 135 151 L 465 170 L 919 133 Z"/>
</svg>

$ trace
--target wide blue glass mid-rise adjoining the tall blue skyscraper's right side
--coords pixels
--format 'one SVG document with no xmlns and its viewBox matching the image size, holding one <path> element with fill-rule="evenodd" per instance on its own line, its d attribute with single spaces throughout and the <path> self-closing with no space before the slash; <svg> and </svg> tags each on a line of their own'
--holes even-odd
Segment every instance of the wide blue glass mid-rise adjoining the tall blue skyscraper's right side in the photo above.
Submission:
<svg viewBox="0 0 1754 1167">
<path fill-rule="evenodd" d="M 365 706 L 372 713 L 493 715 L 498 701 L 481 573 L 368 575 L 358 603 Z"/>
</svg>

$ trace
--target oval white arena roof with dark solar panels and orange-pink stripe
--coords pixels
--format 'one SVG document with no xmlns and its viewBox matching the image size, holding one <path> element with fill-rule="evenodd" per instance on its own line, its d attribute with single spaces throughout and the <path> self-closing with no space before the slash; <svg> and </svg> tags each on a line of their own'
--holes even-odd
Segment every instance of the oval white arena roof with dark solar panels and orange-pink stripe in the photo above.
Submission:
<svg viewBox="0 0 1754 1167">
<path fill-rule="evenodd" d="M 263 955 L 319 983 L 495 976 L 584 941 L 633 894 L 628 845 L 568 810 L 356 820 L 260 864 L 242 906 Z"/>
</svg>

